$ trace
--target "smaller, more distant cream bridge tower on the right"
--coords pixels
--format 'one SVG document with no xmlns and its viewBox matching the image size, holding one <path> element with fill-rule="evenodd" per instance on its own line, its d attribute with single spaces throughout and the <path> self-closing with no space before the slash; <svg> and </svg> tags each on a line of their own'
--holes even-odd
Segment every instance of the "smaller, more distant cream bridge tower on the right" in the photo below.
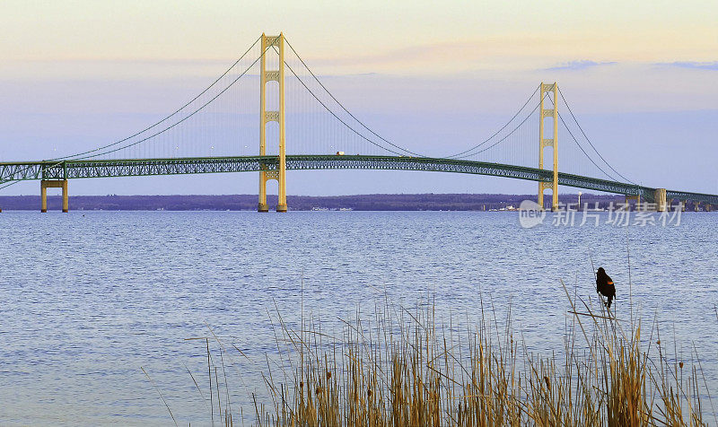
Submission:
<svg viewBox="0 0 718 427">
<path fill-rule="evenodd" d="M 540 116 L 538 118 L 538 169 L 544 169 L 544 148 L 552 147 L 552 156 L 554 158 L 554 173 L 550 182 L 539 182 L 538 183 L 538 205 L 541 209 L 544 208 L 544 191 L 547 188 L 551 188 L 552 191 L 552 202 L 551 209 L 558 210 L 558 100 L 556 99 L 558 92 L 558 84 L 556 82 L 549 84 L 541 82 L 540 100 L 541 106 L 539 108 Z M 544 109 L 544 100 L 548 92 L 553 92 L 553 108 Z M 546 118 L 553 118 L 553 137 L 544 137 L 544 121 Z M 550 135 L 550 134 L 549 134 Z"/>
</svg>

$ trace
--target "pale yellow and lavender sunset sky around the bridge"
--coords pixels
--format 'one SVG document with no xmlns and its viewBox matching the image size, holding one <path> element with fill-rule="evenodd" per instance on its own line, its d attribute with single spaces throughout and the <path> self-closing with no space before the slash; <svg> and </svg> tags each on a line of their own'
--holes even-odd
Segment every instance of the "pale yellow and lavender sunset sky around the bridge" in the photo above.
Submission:
<svg viewBox="0 0 718 427">
<path fill-rule="evenodd" d="M 556 81 L 624 175 L 718 193 L 715 1 L 4 0 L 0 16 L 0 161 L 131 135 L 204 89 L 259 34 L 283 31 L 348 109 L 397 144 L 460 150 L 491 135 L 538 83 Z M 82 179 L 70 191 L 252 194 L 255 175 Z M 346 170 L 289 172 L 287 186 L 294 195 L 536 190 Z"/>
</svg>

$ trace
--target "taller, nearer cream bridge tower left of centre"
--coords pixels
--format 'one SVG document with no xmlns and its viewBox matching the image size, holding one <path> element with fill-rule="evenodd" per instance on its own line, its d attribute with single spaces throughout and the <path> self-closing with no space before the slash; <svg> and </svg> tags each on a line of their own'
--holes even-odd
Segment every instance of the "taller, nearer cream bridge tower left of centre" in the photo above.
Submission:
<svg viewBox="0 0 718 427">
<path fill-rule="evenodd" d="M 278 70 L 267 70 L 267 55 L 276 51 L 279 54 Z M 258 212 L 268 212 L 267 181 L 276 179 L 279 183 L 279 200 L 276 212 L 286 212 L 286 162 L 285 162 L 285 36 L 267 36 L 262 33 L 262 57 L 259 60 L 259 155 L 267 154 L 267 122 L 276 121 L 279 124 L 279 162 L 276 170 L 268 170 L 267 165 L 259 171 L 259 204 Z M 267 111 L 267 82 L 279 83 L 279 110 Z"/>
</svg>

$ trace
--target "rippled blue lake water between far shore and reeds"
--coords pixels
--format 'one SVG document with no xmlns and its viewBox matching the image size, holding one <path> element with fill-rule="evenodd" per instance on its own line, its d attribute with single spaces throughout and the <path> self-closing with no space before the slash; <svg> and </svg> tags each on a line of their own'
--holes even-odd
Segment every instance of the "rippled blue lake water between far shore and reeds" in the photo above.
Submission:
<svg viewBox="0 0 718 427">
<path fill-rule="evenodd" d="M 533 229 L 517 213 L 0 213 L 0 425 L 173 425 L 140 367 L 180 425 L 207 424 L 187 371 L 202 375 L 206 343 L 186 338 L 208 327 L 254 361 L 225 355 L 235 412 L 253 414 L 276 352 L 269 316 L 295 321 L 302 299 L 330 327 L 427 295 L 440 316 L 475 321 L 483 298 L 511 304 L 530 350 L 551 352 L 569 309 L 559 279 L 595 295 L 590 253 L 617 283 L 619 317 L 630 266 L 645 321 L 667 325 L 679 354 L 695 342 L 716 396 L 716 238 L 715 213 Z"/>
</svg>

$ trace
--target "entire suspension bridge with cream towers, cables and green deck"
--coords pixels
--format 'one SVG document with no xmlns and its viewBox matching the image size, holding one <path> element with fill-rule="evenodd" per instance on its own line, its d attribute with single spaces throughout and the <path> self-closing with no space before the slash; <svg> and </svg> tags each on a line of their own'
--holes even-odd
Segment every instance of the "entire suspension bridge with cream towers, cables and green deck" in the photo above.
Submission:
<svg viewBox="0 0 718 427">
<path fill-rule="evenodd" d="M 384 138 L 329 92 L 283 34 L 263 34 L 205 90 L 132 135 L 48 160 L 0 162 L 0 189 L 39 180 L 41 212 L 48 187 L 62 188 L 68 212 L 70 179 L 258 172 L 258 211 L 269 210 L 274 179 L 276 211 L 285 212 L 286 170 L 425 170 L 536 181 L 541 208 L 546 190 L 558 208 L 558 186 L 625 195 L 661 211 L 674 199 L 718 205 L 716 195 L 644 187 L 619 173 L 556 83 L 538 85 L 494 134 L 468 145 L 431 156 Z"/>
</svg>

